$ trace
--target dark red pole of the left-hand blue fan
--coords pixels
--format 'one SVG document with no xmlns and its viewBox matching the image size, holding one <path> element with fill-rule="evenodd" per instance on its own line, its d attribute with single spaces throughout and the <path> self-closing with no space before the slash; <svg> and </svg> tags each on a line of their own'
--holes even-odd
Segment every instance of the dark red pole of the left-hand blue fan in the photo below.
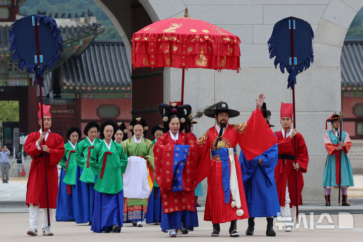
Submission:
<svg viewBox="0 0 363 242">
<path fill-rule="evenodd" d="M 35 39 L 36 39 L 36 47 L 37 47 L 37 60 L 38 60 L 38 68 L 40 68 L 40 55 L 39 55 L 39 38 L 38 38 L 38 21 L 34 16 L 35 23 Z M 37 75 L 37 74 L 36 74 Z M 41 114 L 41 128 L 42 133 L 44 133 L 44 120 L 43 120 L 43 97 L 42 97 L 42 88 L 41 88 L 41 77 L 38 76 L 39 82 L 39 99 L 40 99 L 40 114 Z M 45 145 L 45 139 L 43 140 L 43 145 Z M 47 201 L 47 218 L 48 218 L 48 226 L 50 226 L 50 217 L 49 217 L 49 196 L 48 196 L 48 176 L 47 176 L 47 164 L 46 164 L 46 153 L 43 152 L 44 156 L 44 171 L 45 171 L 45 192 L 46 192 L 46 201 Z"/>
</svg>

